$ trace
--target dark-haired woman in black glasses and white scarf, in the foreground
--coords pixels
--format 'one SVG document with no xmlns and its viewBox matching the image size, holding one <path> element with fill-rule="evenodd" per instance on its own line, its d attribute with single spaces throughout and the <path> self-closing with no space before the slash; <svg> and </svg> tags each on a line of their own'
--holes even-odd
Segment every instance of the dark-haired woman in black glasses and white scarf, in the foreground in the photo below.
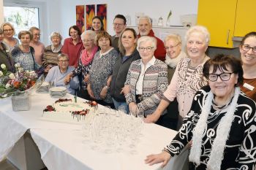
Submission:
<svg viewBox="0 0 256 170">
<path fill-rule="evenodd" d="M 162 163 L 192 141 L 191 169 L 255 169 L 256 105 L 241 93 L 243 69 L 238 59 L 217 55 L 207 61 L 208 86 L 198 90 L 184 124 L 172 142 L 146 163 Z"/>
</svg>

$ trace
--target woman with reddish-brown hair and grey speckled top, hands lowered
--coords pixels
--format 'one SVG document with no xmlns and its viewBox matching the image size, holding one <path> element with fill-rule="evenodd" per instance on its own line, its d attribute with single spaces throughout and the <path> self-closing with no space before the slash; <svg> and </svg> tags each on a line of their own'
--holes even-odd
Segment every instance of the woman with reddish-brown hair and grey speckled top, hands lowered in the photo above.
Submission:
<svg viewBox="0 0 256 170">
<path fill-rule="evenodd" d="M 95 54 L 94 61 L 91 64 L 87 90 L 89 96 L 99 104 L 115 108 L 110 96 L 109 86 L 118 53 L 111 47 L 111 36 L 106 31 L 100 31 L 97 34 L 96 42 L 100 50 Z"/>
</svg>

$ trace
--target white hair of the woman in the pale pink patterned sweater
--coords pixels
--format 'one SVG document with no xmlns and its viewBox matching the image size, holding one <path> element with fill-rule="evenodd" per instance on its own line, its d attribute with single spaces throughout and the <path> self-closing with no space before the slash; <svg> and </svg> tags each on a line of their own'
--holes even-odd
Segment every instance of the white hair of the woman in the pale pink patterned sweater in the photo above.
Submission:
<svg viewBox="0 0 256 170">
<path fill-rule="evenodd" d="M 187 31 L 187 33 L 185 35 L 185 41 L 186 42 L 189 39 L 189 36 L 194 32 L 198 32 L 200 34 L 203 34 L 206 44 L 209 45 L 210 33 L 209 33 L 208 29 L 205 26 L 192 26 L 191 28 L 189 28 L 189 30 Z"/>
</svg>

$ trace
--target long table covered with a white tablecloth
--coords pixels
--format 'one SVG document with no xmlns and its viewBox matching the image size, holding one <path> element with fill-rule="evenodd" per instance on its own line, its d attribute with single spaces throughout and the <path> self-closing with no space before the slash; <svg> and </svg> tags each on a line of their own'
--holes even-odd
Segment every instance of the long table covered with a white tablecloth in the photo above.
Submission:
<svg viewBox="0 0 256 170">
<path fill-rule="evenodd" d="M 73 96 L 67 94 L 65 98 L 73 98 Z M 144 159 L 146 155 L 160 152 L 173 139 L 176 131 L 155 124 L 145 124 L 142 131 L 143 136 L 138 142 L 135 154 L 129 152 L 105 153 L 92 150 L 89 144 L 83 142 L 81 125 L 39 120 L 39 117 L 42 117 L 42 110 L 47 105 L 53 104 L 56 99 L 50 98 L 47 93 L 31 93 L 31 109 L 20 112 L 12 111 L 10 98 L 0 101 L 0 161 L 13 148 L 18 150 L 15 144 L 17 145 L 18 141 L 24 138 L 24 134 L 26 135 L 26 132 L 29 131 L 31 140 L 37 145 L 42 161 L 49 170 L 160 169 L 159 164 L 146 165 Z M 78 98 L 78 100 L 83 99 Z M 31 142 L 29 145 L 32 145 Z M 33 152 L 35 151 L 33 150 Z M 172 158 L 165 169 L 182 169 L 186 152 Z M 31 152 L 24 152 L 24 154 L 26 157 L 26 154 L 31 154 Z M 12 153 L 12 157 L 15 155 L 17 152 Z M 19 154 L 15 159 L 19 158 L 22 158 L 22 155 Z M 31 156 L 29 158 L 33 159 Z M 20 169 L 29 169 L 28 165 L 23 167 L 26 168 Z"/>
</svg>

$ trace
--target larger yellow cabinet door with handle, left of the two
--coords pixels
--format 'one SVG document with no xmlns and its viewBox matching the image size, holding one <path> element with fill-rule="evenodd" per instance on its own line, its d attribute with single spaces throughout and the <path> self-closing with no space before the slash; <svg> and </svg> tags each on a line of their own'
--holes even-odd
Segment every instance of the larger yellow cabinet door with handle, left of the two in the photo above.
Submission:
<svg viewBox="0 0 256 170">
<path fill-rule="evenodd" d="M 233 47 L 236 4 L 237 0 L 198 1 L 197 25 L 208 28 L 210 46 Z"/>
</svg>

